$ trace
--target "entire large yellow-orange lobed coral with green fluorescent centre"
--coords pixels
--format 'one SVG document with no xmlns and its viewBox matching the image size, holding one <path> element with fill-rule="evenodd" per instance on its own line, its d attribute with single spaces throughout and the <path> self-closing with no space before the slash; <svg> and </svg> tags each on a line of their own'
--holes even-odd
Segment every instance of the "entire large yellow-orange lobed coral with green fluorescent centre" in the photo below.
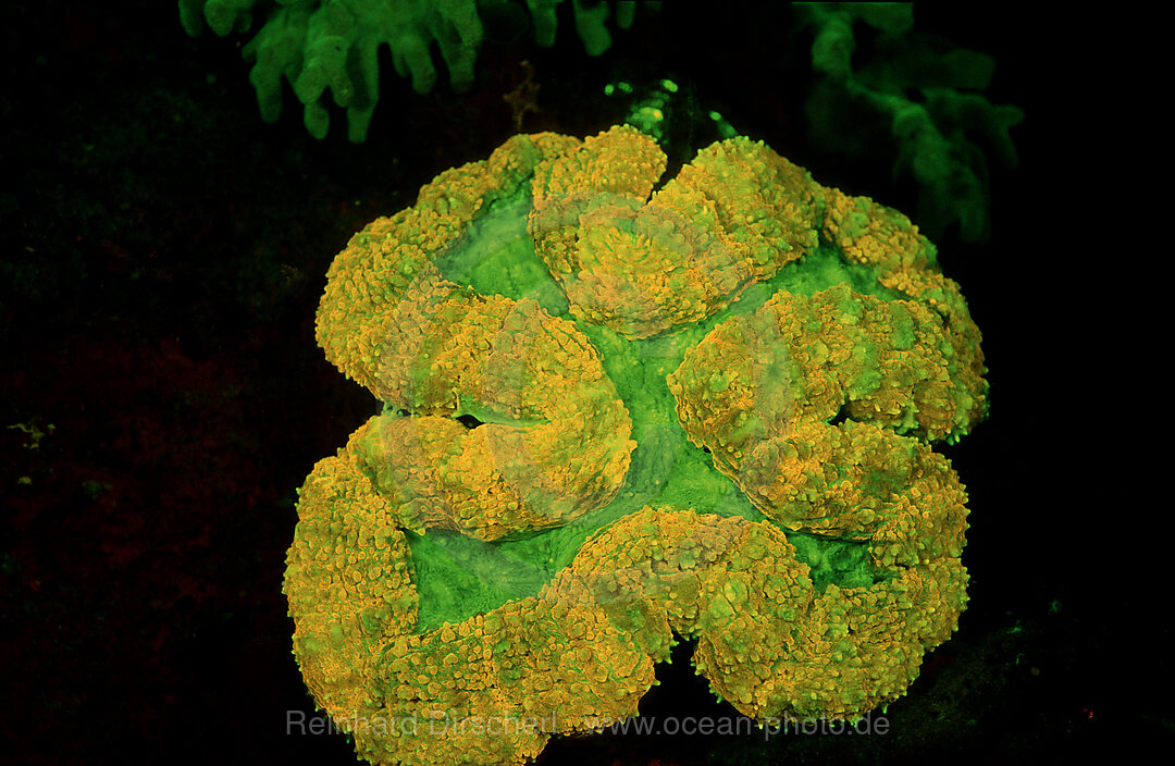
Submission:
<svg viewBox="0 0 1175 766">
<path fill-rule="evenodd" d="M 330 267 L 318 341 L 384 408 L 301 489 L 284 591 L 362 758 L 521 764 L 637 715 L 674 633 L 750 719 L 852 719 L 955 630 L 932 444 L 986 383 L 934 247 L 761 142 L 665 169 L 518 135 Z"/>
</svg>

